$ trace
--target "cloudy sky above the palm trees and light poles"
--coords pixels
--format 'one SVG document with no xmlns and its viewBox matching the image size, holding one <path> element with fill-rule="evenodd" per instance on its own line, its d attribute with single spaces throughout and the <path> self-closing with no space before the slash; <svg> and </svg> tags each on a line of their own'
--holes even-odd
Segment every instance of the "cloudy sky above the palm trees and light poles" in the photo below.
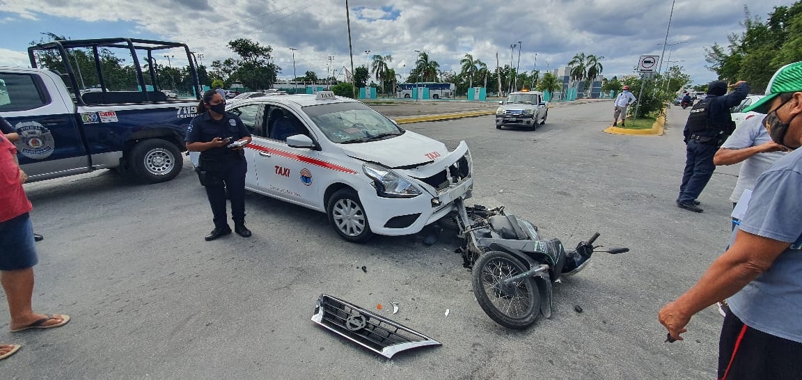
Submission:
<svg viewBox="0 0 802 380">
<path fill-rule="evenodd" d="M 793 0 L 676 0 L 666 61 L 707 83 L 704 47 L 727 44 L 743 32 L 744 11 L 765 20 L 774 6 Z M 578 52 L 603 56 L 603 75 L 632 73 L 640 55 L 660 55 L 671 0 L 350 0 L 354 67 L 371 55 L 391 55 L 405 77 L 415 50 L 427 51 L 441 70 L 460 71 L 472 54 L 493 69 L 564 67 Z M 232 56 L 226 43 L 251 38 L 273 47 L 279 77 L 315 71 L 326 76 L 328 57 L 340 74 L 350 67 L 345 0 L 0 0 L 0 66 L 28 66 L 26 47 L 41 32 L 72 39 L 133 37 L 186 42 L 213 59 Z M 670 58 L 669 58 L 670 53 Z M 167 59 L 160 57 L 167 64 Z M 176 52 L 172 64 L 185 65 Z M 350 70 L 350 69 L 349 69 Z M 342 78 L 342 77 L 341 77 Z"/>
</svg>

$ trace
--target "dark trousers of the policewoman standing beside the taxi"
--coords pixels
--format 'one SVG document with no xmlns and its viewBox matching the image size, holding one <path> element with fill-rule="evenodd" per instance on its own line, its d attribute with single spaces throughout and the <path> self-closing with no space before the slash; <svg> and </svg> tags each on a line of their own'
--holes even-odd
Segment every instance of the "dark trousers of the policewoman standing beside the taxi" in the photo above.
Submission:
<svg viewBox="0 0 802 380">
<path fill-rule="evenodd" d="M 216 168 L 217 169 L 217 168 Z M 206 172 L 206 196 L 212 206 L 215 228 L 229 228 L 225 213 L 225 191 L 231 199 L 231 219 L 234 224 L 245 223 L 245 173 L 248 162 L 241 159 L 225 160 L 219 170 Z"/>
</svg>

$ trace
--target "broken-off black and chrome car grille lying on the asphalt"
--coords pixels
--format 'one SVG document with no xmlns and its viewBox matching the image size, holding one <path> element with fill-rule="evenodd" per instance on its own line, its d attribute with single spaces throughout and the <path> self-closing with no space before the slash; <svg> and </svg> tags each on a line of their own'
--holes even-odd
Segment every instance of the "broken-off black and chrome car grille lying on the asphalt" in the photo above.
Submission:
<svg viewBox="0 0 802 380">
<path fill-rule="evenodd" d="M 385 358 L 403 350 L 441 345 L 407 326 L 326 294 L 318 298 L 312 321 Z"/>
</svg>

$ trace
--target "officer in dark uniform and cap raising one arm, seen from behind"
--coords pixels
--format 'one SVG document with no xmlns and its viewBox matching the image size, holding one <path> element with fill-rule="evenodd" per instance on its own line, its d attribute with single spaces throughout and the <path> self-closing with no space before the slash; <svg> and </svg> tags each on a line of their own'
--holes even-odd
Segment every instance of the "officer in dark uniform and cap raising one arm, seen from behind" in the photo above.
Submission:
<svg viewBox="0 0 802 380">
<path fill-rule="evenodd" d="M 679 186 L 678 208 L 703 211 L 696 198 L 713 176 L 715 152 L 735 129 L 730 108 L 737 106 L 749 94 L 749 85 L 743 80 L 734 86 L 735 91 L 727 94 L 727 83 L 719 80 L 711 82 L 707 85 L 707 96 L 696 103 L 691 115 L 688 115 L 683 130 L 686 161 L 683 183 Z"/>
</svg>

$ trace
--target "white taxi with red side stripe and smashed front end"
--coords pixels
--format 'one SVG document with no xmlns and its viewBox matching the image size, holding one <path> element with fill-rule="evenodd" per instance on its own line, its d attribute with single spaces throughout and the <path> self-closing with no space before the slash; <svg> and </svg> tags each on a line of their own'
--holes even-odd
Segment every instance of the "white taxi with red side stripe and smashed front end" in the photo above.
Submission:
<svg viewBox="0 0 802 380">
<path fill-rule="evenodd" d="M 471 196 L 464 141 L 448 152 L 354 99 L 318 91 L 242 99 L 226 110 L 253 135 L 245 188 L 326 212 L 346 241 L 419 232 Z"/>
</svg>

